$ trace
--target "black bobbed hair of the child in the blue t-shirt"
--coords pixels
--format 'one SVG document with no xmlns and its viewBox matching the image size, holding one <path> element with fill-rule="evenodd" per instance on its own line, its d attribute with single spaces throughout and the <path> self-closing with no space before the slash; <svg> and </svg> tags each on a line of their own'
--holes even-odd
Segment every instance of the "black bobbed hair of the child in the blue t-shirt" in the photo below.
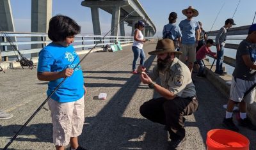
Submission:
<svg viewBox="0 0 256 150">
<path fill-rule="evenodd" d="M 52 41 L 64 41 L 68 36 L 79 34 L 81 27 L 67 16 L 56 15 L 49 22 L 48 37 Z"/>
</svg>

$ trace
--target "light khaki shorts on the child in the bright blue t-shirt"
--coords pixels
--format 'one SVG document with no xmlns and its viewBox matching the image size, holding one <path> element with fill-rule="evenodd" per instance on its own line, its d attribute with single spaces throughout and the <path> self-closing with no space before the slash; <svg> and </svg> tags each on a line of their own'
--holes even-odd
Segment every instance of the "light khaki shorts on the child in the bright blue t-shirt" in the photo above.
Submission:
<svg viewBox="0 0 256 150">
<path fill-rule="evenodd" d="M 84 97 L 77 101 L 59 103 L 51 98 L 48 101 L 53 125 L 53 143 L 67 146 L 70 137 L 81 135 L 84 125 Z"/>
</svg>

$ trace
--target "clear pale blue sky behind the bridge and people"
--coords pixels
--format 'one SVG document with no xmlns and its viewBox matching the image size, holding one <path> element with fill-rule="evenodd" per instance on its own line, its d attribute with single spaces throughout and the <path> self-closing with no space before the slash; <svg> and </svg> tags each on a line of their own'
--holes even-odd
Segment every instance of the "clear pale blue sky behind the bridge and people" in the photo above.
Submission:
<svg viewBox="0 0 256 150">
<path fill-rule="evenodd" d="M 10 0 L 12 5 L 13 21 L 15 31 L 30 32 L 31 27 L 31 1 L 32 0 Z M 81 26 L 82 34 L 93 34 L 92 15 L 90 8 L 81 6 L 83 0 L 52 0 L 52 15 L 67 15 Z M 253 22 L 255 15 L 255 0 L 139 0 L 144 10 L 157 29 L 155 36 L 161 36 L 164 24 L 168 24 L 170 12 L 178 14 L 177 24 L 186 19 L 182 10 L 193 6 L 199 15 L 195 20 L 202 22 L 205 31 L 218 30 L 225 20 L 232 18 L 236 26 L 246 26 Z M 237 4 L 239 3 L 238 7 Z M 221 6 L 223 8 L 221 9 Z M 237 7 L 237 10 L 236 10 Z M 22 9 L 20 9 L 22 8 Z M 220 11 L 220 15 L 218 12 Z M 218 15 L 218 17 L 217 17 Z M 214 23 L 214 20 L 216 22 Z M 256 22 L 256 20 L 255 20 Z M 102 33 L 111 29 L 111 14 L 100 10 L 100 26 Z M 236 27 L 233 26 L 233 27 Z M 125 24 L 125 34 L 131 35 L 131 27 Z"/>
</svg>

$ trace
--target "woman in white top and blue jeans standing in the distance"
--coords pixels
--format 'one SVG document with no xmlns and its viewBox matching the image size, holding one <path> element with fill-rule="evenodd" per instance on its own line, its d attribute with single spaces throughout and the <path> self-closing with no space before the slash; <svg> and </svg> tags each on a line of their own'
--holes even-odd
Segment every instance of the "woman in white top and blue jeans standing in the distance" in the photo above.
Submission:
<svg viewBox="0 0 256 150">
<path fill-rule="evenodd" d="M 144 39 L 143 31 L 145 27 L 145 23 L 143 21 L 138 21 L 134 24 L 134 41 L 132 43 L 132 52 L 133 52 L 133 61 L 132 61 L 132 73 L 137 74 L 136 63 L 138 58 L 140 57 L 140 65 L 144 65 L 145 62 L 145 53 L 143 50 L 143 42 L 146 42 Z"/>
</svg>

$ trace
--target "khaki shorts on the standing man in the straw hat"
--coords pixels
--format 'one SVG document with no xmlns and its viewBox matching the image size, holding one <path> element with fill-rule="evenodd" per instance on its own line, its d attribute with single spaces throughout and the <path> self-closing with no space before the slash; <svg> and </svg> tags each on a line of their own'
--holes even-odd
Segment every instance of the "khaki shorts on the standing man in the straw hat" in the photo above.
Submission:
<svg viewBox="0 0 256 150">
<path fill-rule="evenodd" d="M 196 61 L 196 45 L 195 44 L 182 44 L 180 48 L 180 55 L 179 59 L 183 63 L 185 63 L 188 58 L 188 63 L 194 63 Z"/>
</svg>

